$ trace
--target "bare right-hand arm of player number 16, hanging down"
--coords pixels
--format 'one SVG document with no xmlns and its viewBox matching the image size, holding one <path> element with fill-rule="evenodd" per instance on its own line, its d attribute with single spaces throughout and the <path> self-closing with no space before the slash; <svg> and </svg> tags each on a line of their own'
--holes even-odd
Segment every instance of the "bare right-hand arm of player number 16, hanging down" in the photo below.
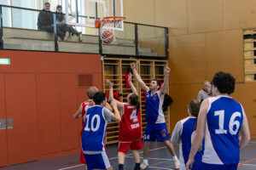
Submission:
<svg viewBox="0 0 256 170">
<path fill-rule="evenodd" d="M 243 113 L 243 121 L 241 124 L 241 131 L 240 131 L 240 138 L 239 138 L 239 146 L 243 148 L 251 139 L 250 130 L 247 122 L 247 116 Z"/>
</svg>

